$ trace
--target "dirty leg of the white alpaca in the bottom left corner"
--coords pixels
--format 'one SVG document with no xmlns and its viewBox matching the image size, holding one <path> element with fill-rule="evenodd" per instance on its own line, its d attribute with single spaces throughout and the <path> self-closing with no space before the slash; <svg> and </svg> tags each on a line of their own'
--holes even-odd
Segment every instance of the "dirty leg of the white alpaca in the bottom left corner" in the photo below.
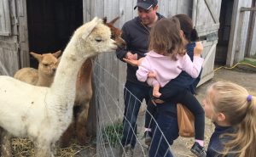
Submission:
<svg viewBox="0 0 256 157">
<path fill-rule="evenodd" d="M 9 132 L 4 131 L 0 128 L 1 135 L 1 156 L 10 157 L 12 156 L 12 148 L 11 148 L 11 135 Z"/>
</svg>

